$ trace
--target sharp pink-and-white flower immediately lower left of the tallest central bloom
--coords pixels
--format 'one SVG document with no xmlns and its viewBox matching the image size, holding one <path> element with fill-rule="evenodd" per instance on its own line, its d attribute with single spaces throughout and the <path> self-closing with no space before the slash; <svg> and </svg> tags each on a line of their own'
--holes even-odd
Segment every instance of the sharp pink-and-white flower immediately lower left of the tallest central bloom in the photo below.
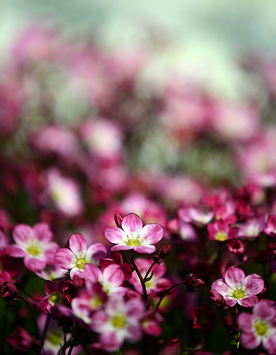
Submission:
<svg viewBox="0 0 276 355">
<path fill-rule="evenodd" d="M 99 265 L 101 259 L 106 256 L 103 244 L 93 244 L 87 249 L 84 237 L 79 233 L 73 233 L 69 238 L 69 248 L 61 248 L 54 255 L 55 263 L 62 269 L 70 270 L 70 278 L 74 275 L 84 278 L 84 265 Z"/>
</svg>

